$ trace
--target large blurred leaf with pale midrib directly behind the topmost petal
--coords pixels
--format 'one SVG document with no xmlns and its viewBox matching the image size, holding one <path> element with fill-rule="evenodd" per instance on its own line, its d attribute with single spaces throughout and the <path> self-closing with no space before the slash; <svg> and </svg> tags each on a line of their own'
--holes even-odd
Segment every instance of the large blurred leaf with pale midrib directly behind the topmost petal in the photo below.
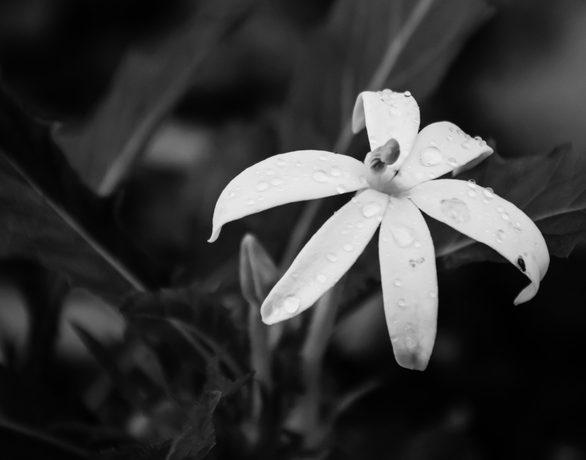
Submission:
<svg viewBox="0 0 586 460">
<path fill-rule="evenodd" d="M 331 149 L 342 129 L 347 146 L 360 91 L 410 90 L 421 102 L 492 13 L 484 0 L 339 0 L 298 63 L 284 149 Z"/>
</svg>

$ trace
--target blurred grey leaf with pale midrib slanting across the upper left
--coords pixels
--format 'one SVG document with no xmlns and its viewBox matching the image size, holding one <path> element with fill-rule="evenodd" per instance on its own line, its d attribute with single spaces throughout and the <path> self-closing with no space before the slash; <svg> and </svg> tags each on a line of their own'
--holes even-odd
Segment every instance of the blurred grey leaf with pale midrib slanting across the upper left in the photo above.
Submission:
<svg viewBox="0 0 586 460">
<path fill-rule="evenodd" d="M 101 195 L 120 183 L 161 119 L 188 90 L 193 74 L 251 9 L 248 0 L 193 3 L 192 17 L 178 30 L 128 51 L 90 121 L 56 132 L 71 164 Z"/>
</svg>

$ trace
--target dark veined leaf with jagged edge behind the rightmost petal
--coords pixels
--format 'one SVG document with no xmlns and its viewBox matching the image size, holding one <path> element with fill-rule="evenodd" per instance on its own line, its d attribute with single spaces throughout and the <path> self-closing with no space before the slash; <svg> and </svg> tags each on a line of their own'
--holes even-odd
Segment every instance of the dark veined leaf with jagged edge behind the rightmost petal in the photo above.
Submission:
<svg viewBox="0 0 586 460">
<path fill-rule="evenodd" d="M 567 257 L 586 238 L 586 156 L 564 144 L 547 155 L 504 159 L 493 154 L 458 178 L 474 179 L 523 210 L 543 234 L 551 255 Z M 503 261 L 495 251 L 447 226 L 434 231 L 444 268 L 481 260 Z"/>
</svg>

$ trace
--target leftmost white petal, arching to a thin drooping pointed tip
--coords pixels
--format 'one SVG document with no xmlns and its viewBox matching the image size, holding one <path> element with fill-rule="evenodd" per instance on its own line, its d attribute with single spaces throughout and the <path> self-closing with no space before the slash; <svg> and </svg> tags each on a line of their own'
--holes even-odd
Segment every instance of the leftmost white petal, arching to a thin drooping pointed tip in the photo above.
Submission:
<svg viewBox="0 0 586 460">
<path fill-rule="evenodd" d="M 275 155 L 234 177 L 218 198 L 209 242 L 222 225 L 255 212 L 366 188 L 366 166 L 346 155 L 298 150 Z"/>
</svg>

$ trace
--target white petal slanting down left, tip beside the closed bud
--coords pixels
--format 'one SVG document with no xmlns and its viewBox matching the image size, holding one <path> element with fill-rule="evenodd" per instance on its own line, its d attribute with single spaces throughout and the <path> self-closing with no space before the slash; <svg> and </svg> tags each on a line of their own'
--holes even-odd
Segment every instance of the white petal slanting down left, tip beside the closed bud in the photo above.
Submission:
<svg viewBox="0 0 586 460">
<path fill-rule="evenodd" d="M 336 284 L 374 235 L 387 202 L 389 195 L 369 188 L 329 218 L 268 294 L 261 307 L 265 324 L 301 313 Z"/>
</svg>

